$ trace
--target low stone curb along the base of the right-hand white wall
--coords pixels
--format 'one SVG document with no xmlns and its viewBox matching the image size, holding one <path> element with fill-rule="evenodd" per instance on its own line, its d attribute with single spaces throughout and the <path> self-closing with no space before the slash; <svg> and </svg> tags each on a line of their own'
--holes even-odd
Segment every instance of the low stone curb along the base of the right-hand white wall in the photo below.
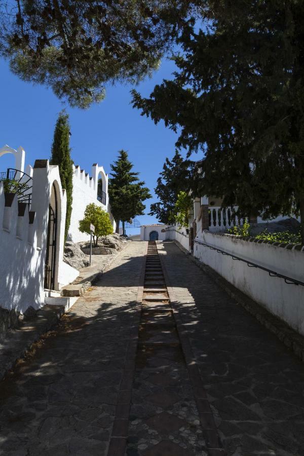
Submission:
<svg viewBox="0 0 304 456">
<path fill-rule="evenodd" d="M 245 293 L 238 290 L 234 285 L 221 277 L 212 268 L 190 255 L 189 252 L 177 241 L 173 242 L 191 261 L 193 261 L 202 271 L 208 274 L 208 276 L 210 276 L 227 294 L 244 307 L 244 309 L 254 316 L 263 326 L 265 326 L 265 328 L 275 334 L 278 339 L 280 339 L 286 347 L 292 350 L 301 361 L 304 361 L 304 337 L 302 335 L 298 334 L 283 320 L 275 315 L 272 315 L 268 310 L 264 309 Z"/>
</svg>

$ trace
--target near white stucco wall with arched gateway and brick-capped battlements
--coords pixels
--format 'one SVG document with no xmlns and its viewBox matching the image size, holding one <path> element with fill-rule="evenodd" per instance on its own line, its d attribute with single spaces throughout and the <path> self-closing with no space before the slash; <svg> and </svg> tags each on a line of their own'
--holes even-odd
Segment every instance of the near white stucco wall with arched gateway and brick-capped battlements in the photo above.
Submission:
<svg viewBox="0 0 304 456">
<path fill-rule="evenodd" d="M 20 204 L 16 195 L 6 196 L 0 182 L 0 306 L 24 312 L 44 305 L 44 275 L 49 204 L 53 184 L 57 193 L 55 289 L 78 276 L 62 261 L 66 197 L 58 166 L 37 160 L 33 168 L 32 203 Z"/>
</svg>

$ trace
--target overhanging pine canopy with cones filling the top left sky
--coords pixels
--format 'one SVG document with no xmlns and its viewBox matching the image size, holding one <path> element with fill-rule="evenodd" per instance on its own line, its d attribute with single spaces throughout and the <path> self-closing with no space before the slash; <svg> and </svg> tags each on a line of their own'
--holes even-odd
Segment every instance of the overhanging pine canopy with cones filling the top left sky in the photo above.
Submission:
<svg viewBox="0 0 304 456">
<path fill-rule="evenodd" d="M 138 82 L 158 66 L 188 13 L 185 0 L 17 0 L 0 4 L 0 52 L 25 81 L 72 106 L 104 85 Z"/>
</svg>

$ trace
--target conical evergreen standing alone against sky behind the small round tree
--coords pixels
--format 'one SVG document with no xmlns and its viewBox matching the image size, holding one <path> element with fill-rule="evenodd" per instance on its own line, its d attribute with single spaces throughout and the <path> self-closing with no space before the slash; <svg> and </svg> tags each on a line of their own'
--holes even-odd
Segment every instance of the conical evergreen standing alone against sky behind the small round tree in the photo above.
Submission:
<svg viewBox="0 0 304 456">
<path fill-rule="evenodd" d="M 119 151 L 118 160 L 110 165 L 112 176 L 109 179 L 108 194 L 111 212 L 116 221 L 116 232 L 119 233 L 120 220 L 124 223 L 136 215 L 143 215 L 144 200 L 151 198 L 149 189 L 138 179 L 132 170 L 133 164 L 128 160 L 125 150 Z"/>
</svg>

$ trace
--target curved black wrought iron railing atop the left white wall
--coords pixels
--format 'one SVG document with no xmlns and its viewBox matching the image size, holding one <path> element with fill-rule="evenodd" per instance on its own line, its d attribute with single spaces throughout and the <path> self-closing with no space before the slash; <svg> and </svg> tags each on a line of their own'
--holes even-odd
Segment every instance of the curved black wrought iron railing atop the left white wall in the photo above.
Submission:
<svg viewBox="0 0 304 456">
<path fill-rule="evenodd" d="M 6 184 L 9 192 L 16 193 L 19 203 L 31 204 L 32 178 L 28 174 L 14 168 L 0 172 L 0 181 L 10 181 Z"/>
</svg>

